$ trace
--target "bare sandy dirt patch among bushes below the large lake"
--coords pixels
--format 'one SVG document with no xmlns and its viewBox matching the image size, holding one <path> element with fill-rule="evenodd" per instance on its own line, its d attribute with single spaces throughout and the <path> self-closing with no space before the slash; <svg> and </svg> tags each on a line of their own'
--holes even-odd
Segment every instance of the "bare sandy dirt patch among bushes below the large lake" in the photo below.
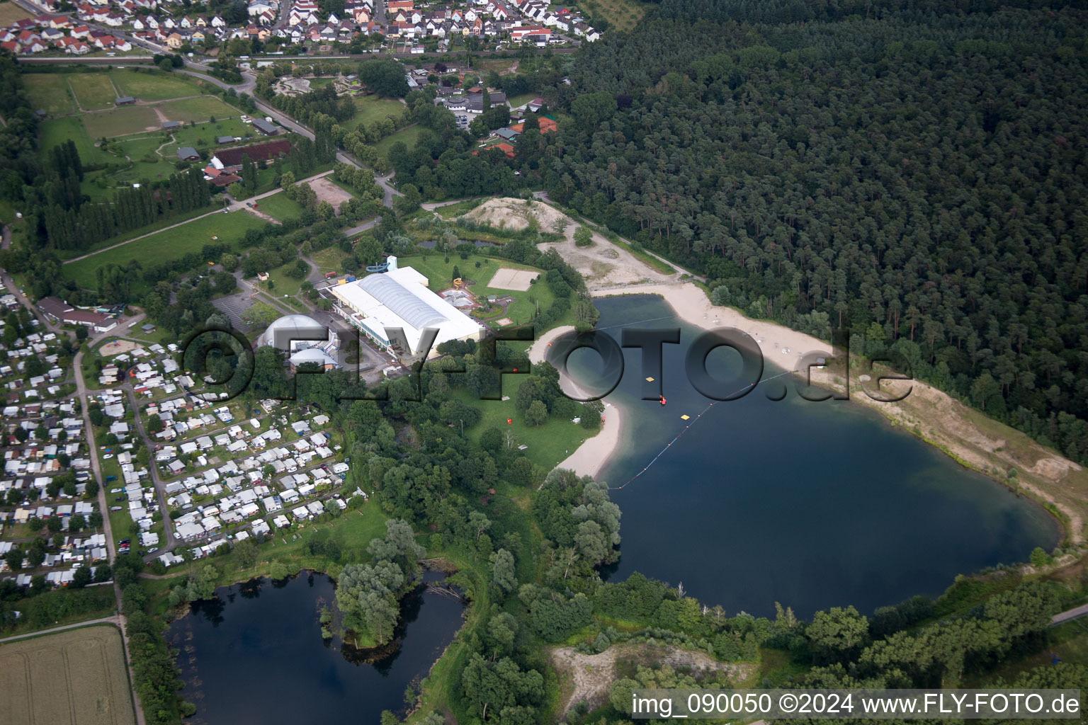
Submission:
<svg viewBox="0 0 1088 725">
<path fill-rule="evenodd" d="M 630 660 L 638 664 L 668 664 L 672 668 L 726 672 L 733 683 L 746 679 L 757 665 L 751 663 L 718 662 L 705 652 L 682 650 L 669 645 L 614 645 L 599 654 L 581 654 L 569 647 L 556 647 L 549 652 L 552 664 L 559 675 L 561 696 L 566 696 L 561 713 L 566 714 L 578 702 L 585 700 L 590 710 L 608 698 L 608 687 L 619 678 L 616 662 Z"/>
</svg>

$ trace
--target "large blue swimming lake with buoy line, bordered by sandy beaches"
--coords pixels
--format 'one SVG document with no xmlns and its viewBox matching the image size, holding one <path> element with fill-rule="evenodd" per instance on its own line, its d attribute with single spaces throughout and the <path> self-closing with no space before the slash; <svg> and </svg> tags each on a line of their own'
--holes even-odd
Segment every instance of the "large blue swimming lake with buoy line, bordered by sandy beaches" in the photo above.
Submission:
<svg viewBox="0 0 1088 725">
<path fill-rule="evenodd" d="M 657 297 L 595 303 L 598 328 L 611 328 L 617 340 L 620 325 L 682 330 L 680 345 L 663 346 L 666 405 L 639 399 L 648 373 L 640 350 L 623 351 L 623 378 L 605 399 L 622 407 L 623 442 L 601 475 L 620 486 L 710 401 L 683 373 L 697 328 L 679 318 L 631 325 L 672 314 Z M 708 370 L 726 364 L 726 353 L 712 353 Z M 570 367 L 584 375 L 598 361 L 582 350 Z M 779 372 L 768 364 L 764 378 Z M 622 557 L 609 578 L 638 571 L 682 582 L 690 596 L 730 614 L 772 615 L 776 601 L 803 617 L 848 604 L 869 614 L 1058 543 L 1059 526 L 1041 507 L 875 411 L 803 400 L 789 376 L 781 379 L 789 382 L 783 400 L 768 400 L 761 386 L 715 404 L 645 474 L 610 492 L 622 510 Z"/>
</svg>

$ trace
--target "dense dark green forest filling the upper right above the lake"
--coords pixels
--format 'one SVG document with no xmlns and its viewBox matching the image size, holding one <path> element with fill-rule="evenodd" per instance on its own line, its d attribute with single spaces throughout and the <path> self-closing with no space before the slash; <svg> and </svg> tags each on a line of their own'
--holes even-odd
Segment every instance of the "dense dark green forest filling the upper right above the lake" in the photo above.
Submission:
<svg viewBox="0 0 1088 725">
<path fill-rule="evenodd" d="M 424 196 L 519 170 L 715 303 L 848 327 L 1085 463 L 1088 15 L 992 4 L 666 1 L 535 76 L 559 132 L 514 160 L 437 124 L 390 160 Z"/>
</svg>

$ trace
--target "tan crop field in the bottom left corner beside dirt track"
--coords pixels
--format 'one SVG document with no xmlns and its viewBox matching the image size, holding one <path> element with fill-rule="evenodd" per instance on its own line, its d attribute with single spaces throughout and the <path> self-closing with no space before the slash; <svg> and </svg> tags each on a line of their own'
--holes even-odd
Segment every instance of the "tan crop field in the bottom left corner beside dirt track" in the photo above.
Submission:
<svg viewBox="0 0 1088 725">
<path fill-rule="evenodd" d="M 135 725 L 121 633 L 81 627 L 0 646 L 5 725 Z"/>
</svg>

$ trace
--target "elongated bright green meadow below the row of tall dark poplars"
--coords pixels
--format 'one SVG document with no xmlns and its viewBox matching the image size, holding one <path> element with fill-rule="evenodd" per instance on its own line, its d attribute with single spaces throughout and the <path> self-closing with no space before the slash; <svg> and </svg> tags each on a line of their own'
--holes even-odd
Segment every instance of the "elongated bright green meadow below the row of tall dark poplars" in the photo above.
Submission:
<svg viewBox="0 0 1088 725">
<path fill-rule="evenodd" d="M 95 270 L 104 264 L 126 264 L 129 260 L 137 260 L 146 267 L 154 266 L 189 252 L 199 252 L 205 245 L 237 242 L 247 229 L 257 229 L 264 224 L 268 222 L 246 212 L 215 213 L 173 229 L 164 229 L 150 237 L 103 250 L 78 262 L 67 262 L 61 271 L 64 276 L 75 279 L 78 285 L 94 289 Z M 143 280 L 140 285 L 144 285 Z"/>
</svg>

